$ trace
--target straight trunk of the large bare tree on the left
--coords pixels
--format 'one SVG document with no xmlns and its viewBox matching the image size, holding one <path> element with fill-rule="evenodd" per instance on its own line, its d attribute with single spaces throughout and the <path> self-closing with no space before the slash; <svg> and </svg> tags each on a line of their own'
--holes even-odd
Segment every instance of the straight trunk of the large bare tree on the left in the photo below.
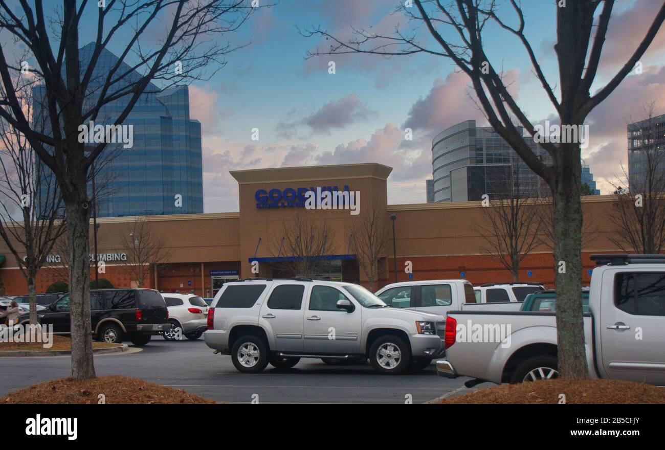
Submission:
<svg viewBox="0 0 665 450">
<path fill-rule="evenodd" d="M 83 181 L 85 186 L 85 181 Z M 94 378 L 90 330 L 90 208 L 85 198 L 65 202 L 69 253 L 69 295 L 72 338 L 72 378 Z"/>
</svg>

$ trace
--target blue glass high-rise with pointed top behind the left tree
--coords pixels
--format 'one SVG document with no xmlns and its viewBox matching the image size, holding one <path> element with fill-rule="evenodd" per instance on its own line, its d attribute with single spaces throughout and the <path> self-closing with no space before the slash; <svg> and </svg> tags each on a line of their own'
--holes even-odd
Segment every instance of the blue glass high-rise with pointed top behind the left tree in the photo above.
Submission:
<svg viewBox="0 0 665 450">
<path fill-rule="evenodd" d="M 94 43 L 80 49 L 81 70 L 86 70 L 93 51 Z M 117 62 L 117 56 L 102 50 L 86 104 L 97 100 L 106 74 Z M 125 72 L 128 74 L 112 85 L 113 90 L 140 76 L 122 63 L 116 73 Z M 190 118 L 188 86 L 160 91 L 150 83 L 145 92 L 123 122 L 132 126 L 132 145 L 110 144 L 100 157 L 98 216 L 203 213 L 201 124 Z M 33 97 L 39 117 L 45 87 L 35 87 Z M 113 124 L 129 99 L 124 96 L 103 106 L 94 125 Z"/>
</svg>

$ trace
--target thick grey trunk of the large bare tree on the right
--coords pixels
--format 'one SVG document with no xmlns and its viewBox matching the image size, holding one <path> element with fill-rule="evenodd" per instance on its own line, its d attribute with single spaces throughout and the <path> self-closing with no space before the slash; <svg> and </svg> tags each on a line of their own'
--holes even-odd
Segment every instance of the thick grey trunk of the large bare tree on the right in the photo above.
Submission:
<svg viewBox="0 0 665 450">
<path fill-rule="evenodd" d="M 559 376 L 587 378 L 582 317 L 581 163 L 579 152 L 571 153 L 567 169 L 553 189 Z"/>
</svg>

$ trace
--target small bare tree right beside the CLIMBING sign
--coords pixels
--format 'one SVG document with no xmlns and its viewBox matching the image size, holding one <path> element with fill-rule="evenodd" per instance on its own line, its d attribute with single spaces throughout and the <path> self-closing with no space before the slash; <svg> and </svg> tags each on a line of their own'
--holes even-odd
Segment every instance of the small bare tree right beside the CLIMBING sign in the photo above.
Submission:
<svg viewBox="0 0 665 450">
<path fill-rule="evenodd" d="M 136 281 L 136 287 L 144 287 L 150 271 L 159 272 L 172 255 L 166 247 L 166 239 L 157 233 L 146 217 L 136 217 L 128 224 L 120 237 L 120 245 L 126 249 L 124 270 Z"/>
</svg>

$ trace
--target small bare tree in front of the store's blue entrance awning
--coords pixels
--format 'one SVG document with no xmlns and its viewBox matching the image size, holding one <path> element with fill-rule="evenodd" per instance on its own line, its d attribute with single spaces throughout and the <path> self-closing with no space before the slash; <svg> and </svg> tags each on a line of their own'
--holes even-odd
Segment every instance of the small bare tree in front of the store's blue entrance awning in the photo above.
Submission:
<svg viewBox="0 0 665 450">
<path fill-rule="evenodd" d="M 315 219 L 305 209 L 293 209 L 271 237 L 269 251 L 281 261 L 275 269 L 291 277 L 317 277 L 330 269 L 325 255 L 332 252 L 334 231 L 327 219 Z"/>
</svg>

